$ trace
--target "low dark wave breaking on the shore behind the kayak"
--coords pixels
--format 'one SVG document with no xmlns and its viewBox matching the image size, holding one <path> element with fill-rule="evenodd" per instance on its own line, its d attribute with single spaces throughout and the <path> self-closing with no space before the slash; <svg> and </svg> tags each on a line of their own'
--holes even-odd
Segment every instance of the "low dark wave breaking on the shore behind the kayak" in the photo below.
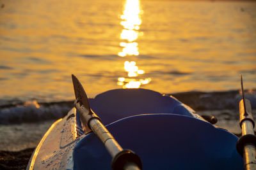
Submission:
<svg viewBox="0 0 256 170">
<path fill-rule="evenodd" d="M 202 110 L 237 110 L 241 94 L 239 90 L 225 92 L 181 92 L 164 94 L 173 96 L 196 111 Z M 246 90 L 246 98 L 251 101 L 252 109 L 256 109 L 256 89 Z M 13 102 L 14 103 L 14 102 Z M 64 117 L 73 107 L 73 101 L 52 103 L 38 103 L 26 101 L 24 103 L 0 106 L 0 124 L 20 124 L 24 122 L 43 122 Z"/>
</svg>

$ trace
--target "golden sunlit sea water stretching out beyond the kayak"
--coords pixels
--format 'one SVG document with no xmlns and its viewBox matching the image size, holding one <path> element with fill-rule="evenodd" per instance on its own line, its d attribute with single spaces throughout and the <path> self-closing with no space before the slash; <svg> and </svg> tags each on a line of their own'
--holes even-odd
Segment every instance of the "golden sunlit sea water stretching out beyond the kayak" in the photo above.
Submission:
<svg viewBox="0 0 256 170">
<path fill-rule="evenodd" d="M 89 97 L 145 88 L 193 99 L 197 91 L 201 104 L 186 104 L 207 105 L 221 126 L 237 121 L 239 74 L 256 99 L 255 28 L 253 1 L 1 0 L 0 150 L 28 129 L 40 135 L 34 140 L 31 130 L 22 146 L 7 149 L 36 146 L 67 113 L 71 74 Z M 218 91 L 225 95 L 211 93 Z"/>
</svg>

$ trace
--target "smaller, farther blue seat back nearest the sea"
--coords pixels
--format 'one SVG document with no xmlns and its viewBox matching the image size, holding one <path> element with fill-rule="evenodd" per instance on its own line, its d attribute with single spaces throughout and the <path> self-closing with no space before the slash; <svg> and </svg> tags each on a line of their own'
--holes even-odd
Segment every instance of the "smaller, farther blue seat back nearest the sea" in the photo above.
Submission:
<svg viewBox="0 0 256 170">
<path fill-rule="evenodd" d="M 175 113 L 193 117 L 195 112 L 174 97 L 147 89 L 115 89 L 89 99 L 92 110 L 108 125 L 116 120 L 146 113 Z"/>
</svg>

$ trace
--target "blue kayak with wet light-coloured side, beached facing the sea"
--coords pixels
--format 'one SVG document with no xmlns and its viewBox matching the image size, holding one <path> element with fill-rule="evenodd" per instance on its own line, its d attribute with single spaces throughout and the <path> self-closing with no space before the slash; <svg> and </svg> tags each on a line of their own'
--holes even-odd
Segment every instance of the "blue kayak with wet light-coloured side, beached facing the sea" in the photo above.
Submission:
<svg viewBox="0 0 256 170">
<path fill-rule="evenodd" d="M 86 94 L 76 91 L 83 87 L 78 80 L 76 87 L 72 78 L 76 107 L 51 125 L 27 169 L 118 169 L 113 167 L 116 158 L 84 123 L 82 104 L 90 105 L 88 110 L 122 148 L 139 157 L 139 169 L 243 169 L 237 136 L 210 124 L 175 97 L 147 89 L 115 89 L 85 99 Z"/>
</svg>

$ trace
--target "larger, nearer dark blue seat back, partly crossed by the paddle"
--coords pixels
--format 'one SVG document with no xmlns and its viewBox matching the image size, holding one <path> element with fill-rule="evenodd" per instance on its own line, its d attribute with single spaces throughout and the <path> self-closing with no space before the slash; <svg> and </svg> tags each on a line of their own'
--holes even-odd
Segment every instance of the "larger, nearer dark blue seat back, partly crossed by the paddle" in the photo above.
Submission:
<svg viewBox="0 0 256 170">
<path fill-rule="evenodd" d="M 107 129 L 140 156 L 143 169 L 243 169 L 237 137 L 196 118 L 136 115 Z M 111 169 L 111 156 L 93 133 L 77 143 L 73 155 L 75 169 Z"/>
</svg>

